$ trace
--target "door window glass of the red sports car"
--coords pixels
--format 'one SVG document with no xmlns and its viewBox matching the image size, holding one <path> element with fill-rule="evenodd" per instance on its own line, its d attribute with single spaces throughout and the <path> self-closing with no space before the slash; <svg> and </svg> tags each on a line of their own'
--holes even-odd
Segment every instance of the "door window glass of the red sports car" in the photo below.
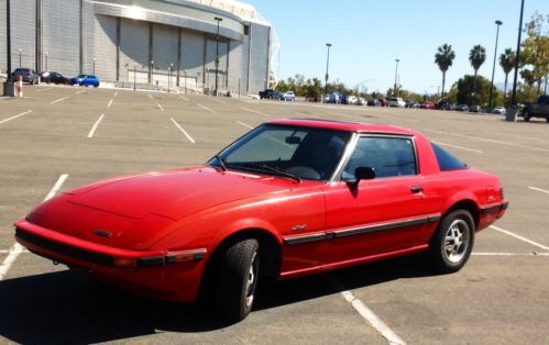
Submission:
<svg viewBox="0 0 549 345">
<path fill-rule="evenodd" d="M 342 179 L 354 178 L 358 167 L 371 167 L 376 178 L 417 174 L 414 144 L 408 137 L 363 136 L 354 148 Z"/>
</svg>

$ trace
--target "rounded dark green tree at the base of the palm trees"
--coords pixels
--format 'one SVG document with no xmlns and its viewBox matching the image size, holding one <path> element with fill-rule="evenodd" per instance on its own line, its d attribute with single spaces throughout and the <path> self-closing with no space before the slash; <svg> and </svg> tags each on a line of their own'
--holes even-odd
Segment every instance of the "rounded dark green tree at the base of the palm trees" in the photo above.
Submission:
<svg viewBox="0 0 549 345">
<path fill-rule="evenodd" d="M 483 76 L 477 76 L 475 80 L 474 76 L 465 75 L 453 87 L 457 88 L 455 100 L 460 104 L 486 107 L 491 87 L 494 102 L 497 104 L 502 101 L 502 93 Z"/>
</svg>

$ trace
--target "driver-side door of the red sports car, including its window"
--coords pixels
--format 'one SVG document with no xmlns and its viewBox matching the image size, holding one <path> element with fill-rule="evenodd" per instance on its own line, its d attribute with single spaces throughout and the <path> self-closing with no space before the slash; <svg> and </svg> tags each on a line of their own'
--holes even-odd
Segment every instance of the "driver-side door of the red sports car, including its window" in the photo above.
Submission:
<svg viewBox="0 0 549 345">
<path fill-rule="evenodd" d="M 352 182 L 358 167 L 375 178 Z M 341 180 L 326 186 L 323 265 L 425 247 L 440 214 L 419 172 L 413 136 L 361 135 Z"/>
</svg>

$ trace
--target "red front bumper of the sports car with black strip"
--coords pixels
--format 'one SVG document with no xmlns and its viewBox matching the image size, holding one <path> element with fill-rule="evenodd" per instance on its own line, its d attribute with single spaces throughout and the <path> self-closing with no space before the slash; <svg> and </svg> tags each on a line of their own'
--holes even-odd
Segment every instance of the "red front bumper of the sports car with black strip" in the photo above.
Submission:
<svg viewBox="0 0 549 345">
<path fill-rule="evenodd" d="M 172 301 L 191 301 L 198 293 L 205 248 L 129 251 L 84 241 L 25 220 L 14 225 L 15 240 L 29 251 L 85 269 L 99 280 L 133 293 Z"/>
</svg>

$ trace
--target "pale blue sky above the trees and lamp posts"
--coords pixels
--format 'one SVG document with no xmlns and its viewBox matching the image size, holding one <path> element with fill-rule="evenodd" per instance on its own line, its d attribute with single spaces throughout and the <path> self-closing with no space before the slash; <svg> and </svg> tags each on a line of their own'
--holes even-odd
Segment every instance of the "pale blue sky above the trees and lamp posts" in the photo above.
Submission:
<svg viewBox="0 0 549 345">
<path fill-rule="evenodd" d="M 516 48 L 520 0 L 244 0 L 273 24 L 281 44 L 279 76 L 299 73 L 323 81 L 326 43 L 330 48 L 330 80 L 348 87 L 364 82 L 367 91 L 385 92 L 398 78 L 403 88 L 419 93 L 437 92 L 442 75 L 435 53 L 452 45 L 455 59 L 447 73 L 446 89 L 464 74 L 473 74 L 469 51 L 481 44 L 486 62 L 479 75 L 492 77 L 496 25 L 497 56 Z M 548 0 L 525 0 L 524 21 L 535 11 L 549 14 Z M 524 35 L 523 35 L 524 37 Z M 496 60 L 494 82 L 504 74 Z M 373 80 L 371 80 L 373 79 Z M 509 80 L 512 77 L 509 75 Z"/>
</svg>

